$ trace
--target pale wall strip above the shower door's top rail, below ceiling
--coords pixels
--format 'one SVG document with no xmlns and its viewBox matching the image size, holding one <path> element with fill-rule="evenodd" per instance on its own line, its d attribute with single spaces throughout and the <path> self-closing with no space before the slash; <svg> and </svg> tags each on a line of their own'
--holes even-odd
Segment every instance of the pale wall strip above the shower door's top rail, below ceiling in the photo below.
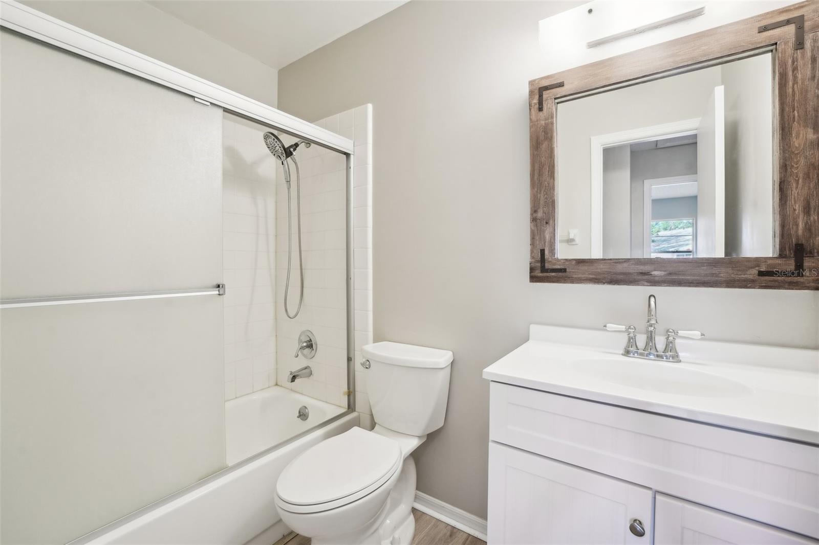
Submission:
<svg viewBox="0 0 819 545">
<path fill-rule="evenodd" d="M 141 0 L 23 0 L 66 23 L 276 106 L 277 70 Z"/>
</svg>

